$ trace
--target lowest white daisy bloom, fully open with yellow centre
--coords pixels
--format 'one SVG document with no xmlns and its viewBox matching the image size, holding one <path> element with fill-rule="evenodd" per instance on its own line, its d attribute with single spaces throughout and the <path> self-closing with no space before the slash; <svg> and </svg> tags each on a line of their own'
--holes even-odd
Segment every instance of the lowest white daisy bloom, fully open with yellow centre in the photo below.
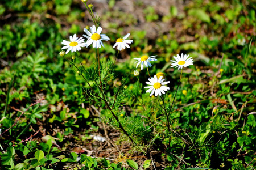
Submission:
<svg viewBox="0 0 256 170">
<path fill-rule="evenodd" d="M 162 79 L 163 76 L 160 76 L 160 78 L 158 79 L 158 77 L 156 75 L 154 75 L 154 78 L 152 77 L 151 79 L 148 79 L 149 82 L 146 82 L 146 84 L 150 85 L 144 88 L 149 88 L 147 92 L 151 92 L 150 96 L 152 96 L 155 93 L 155 96 L 161 96 L 162 94 L 166 94 L 164 91 L 168 91 L 170 88 L 167 86 L 164 86 L 168 83 L 170 83 L 170 81 L 168 82 L 164 82 L 165 79 Z"/>
</svg>

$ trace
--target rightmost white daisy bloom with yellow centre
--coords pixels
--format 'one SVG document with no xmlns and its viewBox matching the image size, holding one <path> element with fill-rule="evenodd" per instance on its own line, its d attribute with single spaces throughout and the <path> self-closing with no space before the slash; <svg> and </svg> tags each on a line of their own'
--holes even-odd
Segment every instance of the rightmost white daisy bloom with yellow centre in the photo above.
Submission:
<svg viewBox="0 0 256 170">
<path fill-rule="evenodd" d="M 182 67 L 187 67 L 187 66 L 190 66 L 190 65 L 193 65 L 193 59 L 192 57 L 188 58 L 189 55 L 187 56 L 186 54 L 183 56 L 183 54 L 181 54 L 181 56 L 179 56 L 179 54 L 177 54 L 177 57 L 174 56 L 174 59 L 176 61 L 173 61 L 171 60 L 172 62 L 174 63 L 171 63 L 171 67 L 175 67 L 177 68 L 178 67 L 178 70 L 179 69 L 182 69 Z"/>
</svg>

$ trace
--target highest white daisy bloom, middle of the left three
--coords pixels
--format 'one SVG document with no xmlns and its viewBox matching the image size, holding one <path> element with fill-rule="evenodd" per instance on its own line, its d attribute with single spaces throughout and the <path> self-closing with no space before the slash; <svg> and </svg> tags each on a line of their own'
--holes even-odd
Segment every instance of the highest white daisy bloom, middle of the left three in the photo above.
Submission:
<svg viewBox="0 0 256 170">
<path fill-rule="evenodd" d="M 84 32 L 87 35 L 83 34 L 82 36 L 87 38 L 86 47 L 88 47 L 90 44 L 93 44 L 93 48 L 101 48 L 101 46 L 104 47 L 101 40 L 108 41 L 109 37 L 106 36 L 105 34 L 100 34 L 101 31 L 102 31 L 102 28 L 98 27 L 96 30 L 95 25 L 90 27 L 90 32 L 86 28 L 84 28 Z"/>
</svg>

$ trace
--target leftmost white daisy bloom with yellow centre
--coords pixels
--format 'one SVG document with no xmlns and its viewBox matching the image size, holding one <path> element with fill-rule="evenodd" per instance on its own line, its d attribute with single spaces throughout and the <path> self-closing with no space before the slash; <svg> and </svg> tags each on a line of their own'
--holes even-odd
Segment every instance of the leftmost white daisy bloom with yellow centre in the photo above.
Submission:
<svg viewBox="0 0 256 170">
<path fill-rule="evenodd" d="M 61 44 L 65 45 L 63 46 L 63 48 L 61 49 L 68 49 L 66 54 L 68 54 L 69 51 L 76 52 L 79 51 L 80 49 L 82 49 L 81 47 L 84 47 L 86 45 L 86 43 L 84 42 L 84 39 L 82 37 L 77 38 L 76 34 L 74 34 L 74 36 L 69 36 L 70 42 L 63 40 L 61 42 Z"/>
</svg>

